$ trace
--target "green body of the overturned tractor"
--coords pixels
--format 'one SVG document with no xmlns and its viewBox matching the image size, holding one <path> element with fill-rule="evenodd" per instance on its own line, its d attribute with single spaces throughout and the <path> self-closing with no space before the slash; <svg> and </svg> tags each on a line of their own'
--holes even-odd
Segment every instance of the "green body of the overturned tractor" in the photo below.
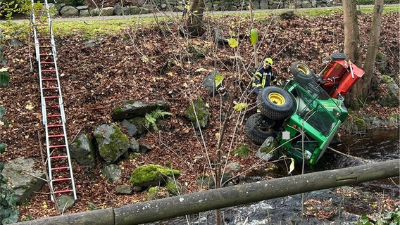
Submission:
<svg viewBox="0 0 400 225">
<path fill-rule="evenodd" d="M 304 158 L 315 165 L 346 119 L 347 110 L 342 101 L 330 98 L 312 79 L 299 82 L 296 78 L 284 87 L 293 98 L 294 110 L 284 122 L 280 146 L 295 160 Z"/>
</svg>

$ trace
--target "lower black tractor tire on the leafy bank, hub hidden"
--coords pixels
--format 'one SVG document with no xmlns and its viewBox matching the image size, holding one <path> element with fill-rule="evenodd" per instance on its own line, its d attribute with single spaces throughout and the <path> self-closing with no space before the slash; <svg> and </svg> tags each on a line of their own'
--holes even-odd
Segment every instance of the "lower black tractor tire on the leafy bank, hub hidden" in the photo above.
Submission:
<svg viewBox="0 0 400 225">
<path fill-rule="evenodd" d="M 275 138 L 273 130 L 274 122 L 263 117 L 260 113 L 255 113 L 246 121 L 246 136 L 258 146 L 272 136 Z"/>
</svg>

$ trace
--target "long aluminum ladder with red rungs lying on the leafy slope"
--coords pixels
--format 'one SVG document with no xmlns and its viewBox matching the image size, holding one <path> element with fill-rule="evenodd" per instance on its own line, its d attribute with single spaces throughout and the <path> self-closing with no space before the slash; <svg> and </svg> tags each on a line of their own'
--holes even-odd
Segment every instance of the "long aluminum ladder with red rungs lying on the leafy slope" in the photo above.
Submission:
<svg viewBox="0 0 400 225">
<path fill-rule="evenodd" d="M 63 193 L 77 199 L 73 168 L 65 131 L 65 113 L 57 70 L 57 52 L 51 28 L 49 4 L 32 1 L 33 34 L 39 70 L 42 120 L 46 131 L 47 169 L 51 200 Z"/>
</svg>

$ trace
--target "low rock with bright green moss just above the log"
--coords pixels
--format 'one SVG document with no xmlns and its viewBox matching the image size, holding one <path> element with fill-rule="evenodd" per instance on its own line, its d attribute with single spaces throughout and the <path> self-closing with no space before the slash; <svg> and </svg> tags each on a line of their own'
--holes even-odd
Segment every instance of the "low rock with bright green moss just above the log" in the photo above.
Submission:
<svg viewBox="0 0 400 225">
<path fill-rule="evenodd" d="M 161 165 L 144 165 L 137 167 L 130 176 L 130 183 L 134 186 L 160 186 L 165 185 L 168 177 L 177 178 L 180 176 L 180 171 L 162 167 Z"/>
</svg>

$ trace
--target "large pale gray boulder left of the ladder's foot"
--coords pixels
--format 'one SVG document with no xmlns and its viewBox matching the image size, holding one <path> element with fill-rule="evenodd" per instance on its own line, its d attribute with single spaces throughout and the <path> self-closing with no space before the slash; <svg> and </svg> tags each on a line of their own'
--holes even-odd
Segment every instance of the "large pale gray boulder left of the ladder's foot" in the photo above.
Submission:
<svg viewBox="0 0 400 225">
<path fill-rule="evenodd" d="M 44 172 L 34 169 L 35 166 L 35 160 L 31 158 L 16 158 L 4 165 L 1 174 L 6 179 L 6 185 L 13 188 L 17 203 L 28 200 L 45 184 Z"/>
</svg>

